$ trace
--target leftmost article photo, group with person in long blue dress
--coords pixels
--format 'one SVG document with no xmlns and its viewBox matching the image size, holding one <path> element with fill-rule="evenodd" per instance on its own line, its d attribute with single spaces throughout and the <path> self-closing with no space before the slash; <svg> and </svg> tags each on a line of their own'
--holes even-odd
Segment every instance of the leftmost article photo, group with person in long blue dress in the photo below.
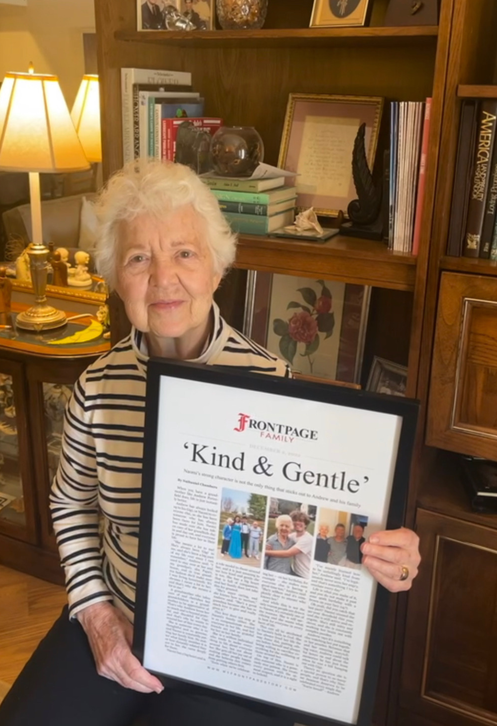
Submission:
<svg viewBox="0 0 497 726">
<path fill-rule="evenodd" d="M 217 559 L 260 567 L 267 497 L 222 489 Z"/>
</svg>

